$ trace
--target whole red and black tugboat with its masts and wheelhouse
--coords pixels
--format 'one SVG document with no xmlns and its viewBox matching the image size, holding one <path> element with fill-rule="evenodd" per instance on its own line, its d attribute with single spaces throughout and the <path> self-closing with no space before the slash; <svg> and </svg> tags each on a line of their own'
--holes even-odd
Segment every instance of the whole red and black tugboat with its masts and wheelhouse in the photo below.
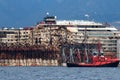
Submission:
<svg viewBox="0 0 120 80">
<path fill-rule="evenodd" d="M 67 62 L 67 67 L 117 67 L 119 60 L 117 58 L 106 57 L 100 49 L 100 43 L 98 43 L 98 50 L 93 50 L 91 56 L 88 56 L 87 49 L 84 50 L 85 62 Z M 80 52 L 78 50 L 78 59 L 80 61 Z"/>
</svg>

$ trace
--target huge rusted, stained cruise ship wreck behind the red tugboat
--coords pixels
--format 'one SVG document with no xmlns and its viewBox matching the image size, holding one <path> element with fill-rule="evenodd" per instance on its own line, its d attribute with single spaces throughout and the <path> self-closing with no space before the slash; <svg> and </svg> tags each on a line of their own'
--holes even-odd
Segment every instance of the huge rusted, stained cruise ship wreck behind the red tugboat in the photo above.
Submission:
<svg viewBox="0 0 120 80">
<path fill-rule="evenodd" d="M 99 41 L 104 55 L 120 59 L 120 32 L 108 23 L 57 20 L 47 15 L 31 28 L 4 28 L 0 33 L 1 66 L 58 66 L 62 63 L 61 45 L 81 44 L 85 38 L 88 44 Z"/>
</svg>

